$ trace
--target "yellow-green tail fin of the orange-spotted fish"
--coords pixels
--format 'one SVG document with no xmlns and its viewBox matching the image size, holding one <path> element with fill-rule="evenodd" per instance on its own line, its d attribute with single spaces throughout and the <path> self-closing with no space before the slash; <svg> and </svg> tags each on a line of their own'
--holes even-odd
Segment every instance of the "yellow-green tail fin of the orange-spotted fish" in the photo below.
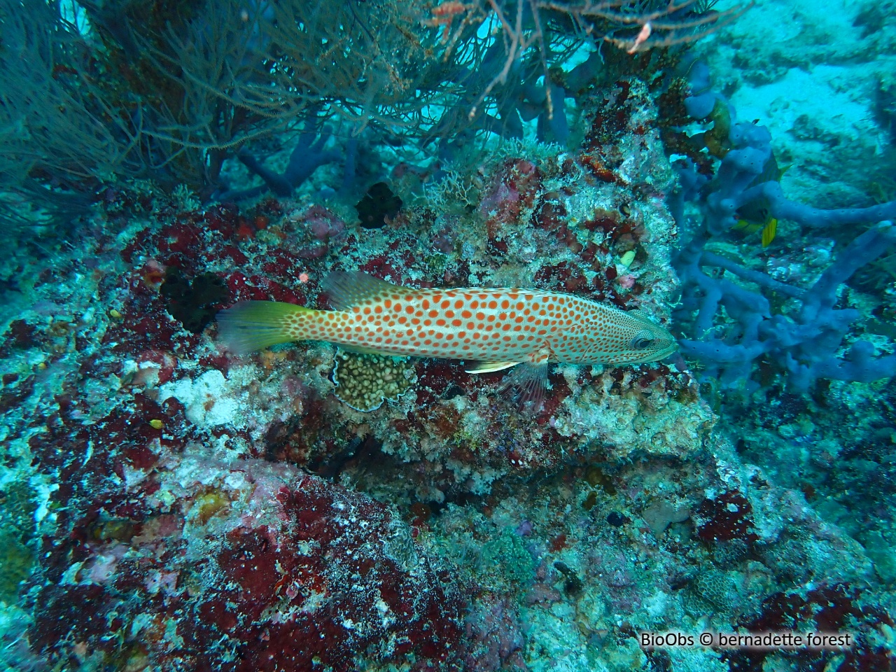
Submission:
<svg viewBox="0 0 896 672">
<path fill-rule="evenodd" d="M 245 355 L 307 338 L 306 320 L 320 311 L 279 301 L 240 301 L 216 316 L 220 340 L 228 350 Z"/>
</svg>

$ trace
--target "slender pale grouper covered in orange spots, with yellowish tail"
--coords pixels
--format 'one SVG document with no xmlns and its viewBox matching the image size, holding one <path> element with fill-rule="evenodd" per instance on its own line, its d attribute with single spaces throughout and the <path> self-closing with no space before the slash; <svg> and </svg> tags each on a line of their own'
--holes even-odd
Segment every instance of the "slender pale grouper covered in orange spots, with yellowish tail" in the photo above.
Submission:
<svg viewBox="0 0 896 672">
<path fill-rule="evenodd" d="M 676 350 L 640 313 L 541 289 L 409 289 L 361 272 L 324 280 L 334 310 L 243 301 L 218 314 L 228 349 L 326 340 L 358 352 L 476 361 L 471 374 L 514 370 L 505 386 L 538 399 L 547 364 L 640 364 Z"/>
</svg>

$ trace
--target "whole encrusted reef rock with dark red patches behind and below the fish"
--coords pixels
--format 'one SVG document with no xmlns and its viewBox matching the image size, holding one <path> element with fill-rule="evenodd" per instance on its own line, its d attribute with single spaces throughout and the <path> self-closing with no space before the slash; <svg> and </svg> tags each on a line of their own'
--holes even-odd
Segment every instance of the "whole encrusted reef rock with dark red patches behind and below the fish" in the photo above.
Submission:
<svg viewBox="0 0 896 672">
<path fill-rule="evenodd" d="M 238 211 L 122 188 L 76 254 L 22 261 L 0 340 L 0 489 L 27 484 L 31 513 L 7 536 L 33 571 L 4 617 L 22 634 L 4 634 L 9 659 L 886 669 L 889 594 L 867 588 L 865 550 L 807 501 L 811 479 L 745 460 L 771 429 L 719 423 L 681 358 L 554 366 L 536 413 L 499 390 L 500 373 L 411 360 L 401 395 L 361 412 L 334 394 L 350 353 L 298 343 L 237 357 L 213 324 L 191 332 L 167 307 L 175 271 L 218 278 L 220 306 L 325 308 L 326 273 L 358 269 L 414 287 L 568 291 L 667 323 L 677 232 L 650 92 L 620 81 L 582 108 L 568 150 L 504 144 L 423 190 L 396 161 L 405 206 L 383 228 L 310 192 Z M 644 630 L 737 627 L 858 643 L 841 658 L 638 643 Z"/>
</svg>

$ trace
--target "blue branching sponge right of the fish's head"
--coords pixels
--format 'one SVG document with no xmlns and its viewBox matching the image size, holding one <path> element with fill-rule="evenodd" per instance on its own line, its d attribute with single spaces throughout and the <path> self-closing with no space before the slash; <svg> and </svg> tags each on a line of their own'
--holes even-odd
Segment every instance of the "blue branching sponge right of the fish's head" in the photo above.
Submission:
<svg viewBox="0 0 896 672">
<path fill-rule="evenodd" d="M 679 186 L 669 196 L 669 209 L 680 230 L 691 232 L 673 260 L 682 286 L 675 317 L 693 325 L 693 338 L 680 341 L 682 352 L 701 361 L 705 377 L 747 390 L 757 385 L 750 376 L 761 357 L 777 363 L 796 392 L 810 389 L 819 378 L 869 382 L 896 375 L 896 355 L 875 356 L 868 341 L 857 340 L 841 353 L 861 315 L 853 308 L 835 307 L 840 286 L 896 243 L 891 221 L 896 219 L 896 202 L 826 211 L 788 200 L 777 180 L 757 180 L 763 173 L 767 177 L 772 159 L 768 129 L 735 123 L 735 110 L 709 90 L 708 71 L 702 65 L 694 67 L 692 77 L 696 95 L 686 101 L 688 110 L 703 118 L 721 100 L 728 105 L 732 123 L 731 150 L 721 159 L 715 177 L 700 175 L 689 159 L 683 159 L 676 165 Z M 698 206 L 699 219 L 685 216 L 686 202 Z M 705 250 L 712 238 L 723 236 L 737 223 L 737 211 L 757 203 L 771 217 L 807 228 L 878 223 L 847 246 L 811 288 L 801 289 Z M 759 290 L 747 289 L 742 282 Z M 772 314 L 763 291 L 794 299 L 798 307 L 789 314 Z"/>
</svg>

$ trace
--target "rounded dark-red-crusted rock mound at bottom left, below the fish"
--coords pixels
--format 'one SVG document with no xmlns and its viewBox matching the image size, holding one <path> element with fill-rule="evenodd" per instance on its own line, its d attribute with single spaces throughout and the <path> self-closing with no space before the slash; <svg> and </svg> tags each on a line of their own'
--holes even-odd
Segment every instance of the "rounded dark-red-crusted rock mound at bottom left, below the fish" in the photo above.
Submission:
<svg viewBox="0 0 896 672">
<path fill-rule="evenodd" d="M 199 446 L 125 469 L 45 557 L 30 642 L 49 659 L 262 670 L 455 655 L 459 595 L 383 504 Z"/>
</svg>

